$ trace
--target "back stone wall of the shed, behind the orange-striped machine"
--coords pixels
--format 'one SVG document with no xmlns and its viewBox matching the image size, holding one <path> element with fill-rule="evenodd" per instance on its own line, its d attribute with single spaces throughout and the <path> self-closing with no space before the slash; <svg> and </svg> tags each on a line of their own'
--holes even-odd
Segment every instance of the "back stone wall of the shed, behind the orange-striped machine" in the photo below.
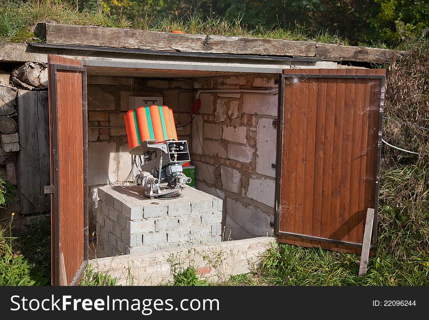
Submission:
<svg viewBox="0 0 429 320">
<path fill-rule="evenodd" d="M 88 76 L 88 185 L 89 230 L 95 231 L 97 188 L 120 185 L 131 169 L 131 155 L 124 115 L 130 96 L 162 96 L 173 109 L 176 125 L 187 123 L 194 94 L 190 80 Z M 120 127 L 120 128 L 93 128 Z M 179 139 L 190 140 L 191 128 L 178 130 Z"/>
</svg>

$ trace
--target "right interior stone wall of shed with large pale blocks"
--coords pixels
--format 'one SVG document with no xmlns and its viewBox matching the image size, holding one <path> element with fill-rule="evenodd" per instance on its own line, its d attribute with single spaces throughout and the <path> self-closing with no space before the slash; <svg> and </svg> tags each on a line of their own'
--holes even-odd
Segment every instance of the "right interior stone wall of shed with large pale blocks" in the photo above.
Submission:
<svg viewBox="0 0 429 320">
<path fill-rule="evenodd" d="M 270 89 L 277 77 L 203 78 L 194 88 Z M 224 199 L 230 239 L 272 235 L 278 94 L 201 93 L 200 100 L 192 128 L 196 188 Z"/>
</svg>

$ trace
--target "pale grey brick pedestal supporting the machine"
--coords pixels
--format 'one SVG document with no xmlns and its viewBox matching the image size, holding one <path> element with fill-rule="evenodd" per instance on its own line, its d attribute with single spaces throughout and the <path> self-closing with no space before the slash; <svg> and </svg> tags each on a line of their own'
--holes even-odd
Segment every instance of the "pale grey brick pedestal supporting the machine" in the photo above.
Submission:
<svg viewBox="0 0 429 320">
<path fill-rule="evenodd" d="M 222 200 L 186 187 L 154 200 L 142 188 L 98 188 L 97 257 L 221 242 Z"/>
</svg>

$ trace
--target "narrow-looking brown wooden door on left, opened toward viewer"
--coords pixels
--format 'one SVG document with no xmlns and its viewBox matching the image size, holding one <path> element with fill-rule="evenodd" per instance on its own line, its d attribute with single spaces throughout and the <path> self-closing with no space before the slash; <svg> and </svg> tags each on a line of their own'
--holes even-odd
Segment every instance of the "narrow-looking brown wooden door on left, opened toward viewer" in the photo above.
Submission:
<svg viewBox="0 0 429 320">
<path fill-rule="evenodd" d="M 48 56 L 52 284 L 77 285 L 88 261 L 86 72 Z"/>
</svg>

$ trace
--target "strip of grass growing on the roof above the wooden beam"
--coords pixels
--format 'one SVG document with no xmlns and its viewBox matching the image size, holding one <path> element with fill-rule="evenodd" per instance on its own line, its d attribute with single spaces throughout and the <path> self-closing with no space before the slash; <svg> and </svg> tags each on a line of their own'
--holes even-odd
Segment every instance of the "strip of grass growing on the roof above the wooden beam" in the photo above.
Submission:
<svg viewBox="0 0 429 320">
<path fill-rule="evenodd" d="M 184 16 L 166 15 L 160 18 L 146 16 L 134 20 L 112 17 L 107 12 L 78 11 L 69 2 L 54 0 L 30 0 L 26 2 L 0 0 L 0 41 L 26 42 L 39 41 L 33 33 L 38 22 L 52 22 L 74 25 L 95 25 L 102 27 L 132 28 L 140 30 L 171 32 L 181 30 L 188 34 L 241 36 L 252 38 L 273 38 L 289 40 L 317 40 L 319 42 L 347 44 L 347 41 L 332 35 L 327 30 L 312 38 L 303 29 L 249 29 L 237 18 L 233 21 L 223 17 L 210 16 L 207 19 Z"/>
</svg>

